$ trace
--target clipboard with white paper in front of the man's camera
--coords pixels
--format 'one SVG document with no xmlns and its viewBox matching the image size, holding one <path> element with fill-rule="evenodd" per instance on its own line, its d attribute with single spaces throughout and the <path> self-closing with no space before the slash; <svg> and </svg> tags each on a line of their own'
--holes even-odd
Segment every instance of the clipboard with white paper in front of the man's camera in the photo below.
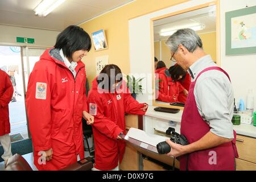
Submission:
<svg viewBox="0 0 256 182">
<path fill-rule="evenodd" d="M 144 150 L 158 154 L 156 145 L 159 142 L 163 142 L 169 138 L 154 134 L 149 135 L 146 134 L 143 130 L 131 127 L 128 133 L 125 135 L 124 139 L 131 144 L 134 144 L 135 146 L 143 148 Z"/>
</svg>

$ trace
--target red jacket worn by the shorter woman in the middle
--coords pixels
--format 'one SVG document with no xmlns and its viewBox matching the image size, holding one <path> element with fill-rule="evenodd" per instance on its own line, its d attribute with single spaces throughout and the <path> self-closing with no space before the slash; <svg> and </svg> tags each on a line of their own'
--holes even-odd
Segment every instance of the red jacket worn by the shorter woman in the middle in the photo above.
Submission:
<svg viewBox="0 0 256 182">
<path fill-rule="evenodd" d="M 94 115 L 93 137 L 95 147 L 95 168 L 110 170 L 122 162 L 125 141 L 117 136 L 125 133 L 125 113 L 144 115 L 139 104 L 128 93 L 99 93 L 97 78 L 88 93 L 90 114 Z"/>
</svg>

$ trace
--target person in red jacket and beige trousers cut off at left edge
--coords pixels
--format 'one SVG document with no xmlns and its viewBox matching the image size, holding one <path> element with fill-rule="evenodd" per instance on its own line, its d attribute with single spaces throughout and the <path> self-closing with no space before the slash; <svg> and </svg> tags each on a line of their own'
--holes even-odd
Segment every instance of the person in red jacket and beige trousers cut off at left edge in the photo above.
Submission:
<svg viewBox="0 0 256 182">
<path fill-rule="evenodd" d="M 11 154 L 11 140 L 10 140 L 10 121 L 9 121 L 9 102 L 13 96 L 13 85 L 9 75 L 0 69 L 0 143 L 3 146 L 2 159 L 9 159 Z"/>
</svg>

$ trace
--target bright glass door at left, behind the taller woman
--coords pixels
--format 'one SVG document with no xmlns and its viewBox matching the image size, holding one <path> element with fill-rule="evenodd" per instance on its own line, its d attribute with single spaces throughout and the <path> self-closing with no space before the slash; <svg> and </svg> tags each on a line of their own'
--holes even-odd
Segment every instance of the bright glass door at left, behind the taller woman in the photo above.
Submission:
<svg viewBox="0 0 256 182">
<path fill-rule="evenodd" d="M 0 69 L 12 81 L 14 94 L 9 104 L 11 142 L 30 138 L 25 96 L 30 73 L 47 48 L 0 46 Z"/>
</svg>

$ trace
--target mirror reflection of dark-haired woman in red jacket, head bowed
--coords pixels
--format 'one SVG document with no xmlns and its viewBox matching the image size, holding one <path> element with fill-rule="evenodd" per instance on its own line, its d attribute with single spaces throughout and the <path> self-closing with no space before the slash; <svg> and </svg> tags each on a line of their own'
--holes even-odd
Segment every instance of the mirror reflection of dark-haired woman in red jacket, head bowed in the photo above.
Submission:
<svg viewBox="0 0 256 182">
<path fill-rule="evenodd" d="M 180 93 L 187 96 L 188 91 L 180 84 L 186 72 L 179 65 L 173 65 L 159 73 L 159 90 L 156 100 L 163 102 L 180 102 L 178 97 Z"/>
</svg>

